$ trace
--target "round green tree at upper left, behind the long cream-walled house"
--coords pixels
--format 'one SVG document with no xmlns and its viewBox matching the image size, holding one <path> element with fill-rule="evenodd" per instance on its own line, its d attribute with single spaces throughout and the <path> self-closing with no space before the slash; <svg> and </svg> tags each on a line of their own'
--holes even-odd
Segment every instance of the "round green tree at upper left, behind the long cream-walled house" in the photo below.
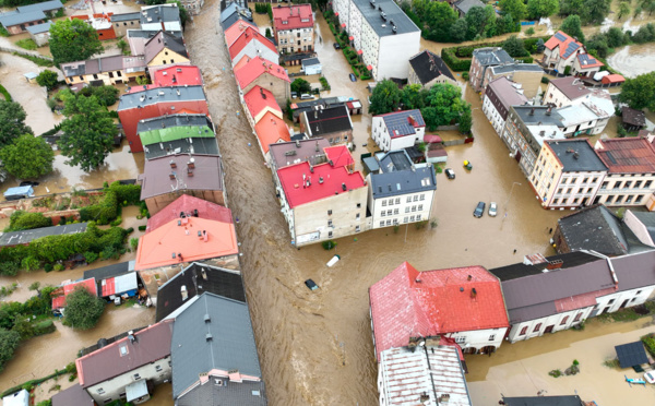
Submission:
<svg viewBox="0 0 655 406">
<path fill-rule="evenodd" d="M 50 53 L 58 67 L 86 60 L 104 50 L 98 33 L 82 20 L 60 20 L 50 25 Z"/>
</svg>

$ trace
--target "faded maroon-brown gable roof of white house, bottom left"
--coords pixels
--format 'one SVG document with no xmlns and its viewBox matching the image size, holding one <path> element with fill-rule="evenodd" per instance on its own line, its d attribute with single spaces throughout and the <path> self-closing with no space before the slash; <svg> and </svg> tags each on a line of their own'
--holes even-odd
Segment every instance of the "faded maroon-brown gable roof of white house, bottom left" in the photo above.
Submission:
<svg viewBox="0 0 655 406">
<path fill-rule="evenodd" d="M 172 320 L 164 320 L 75 360 L 80 386 L 88 387 L 170 355 Z M 124 353 L 121 356 L 121 348 Z"/>
</svg>

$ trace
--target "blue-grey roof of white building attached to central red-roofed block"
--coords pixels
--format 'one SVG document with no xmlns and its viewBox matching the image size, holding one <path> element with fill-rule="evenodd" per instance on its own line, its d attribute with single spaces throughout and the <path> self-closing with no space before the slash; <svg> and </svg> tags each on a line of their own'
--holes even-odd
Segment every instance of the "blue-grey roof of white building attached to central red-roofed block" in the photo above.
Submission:
<svg viewBox="0 0 655 406">
<path fill-rule="evenodd" d="M 415 170 L 371 174 L 371 190 L 373 199 L 437 190 L 437 176 L 431 165 Z"/>
</svg>

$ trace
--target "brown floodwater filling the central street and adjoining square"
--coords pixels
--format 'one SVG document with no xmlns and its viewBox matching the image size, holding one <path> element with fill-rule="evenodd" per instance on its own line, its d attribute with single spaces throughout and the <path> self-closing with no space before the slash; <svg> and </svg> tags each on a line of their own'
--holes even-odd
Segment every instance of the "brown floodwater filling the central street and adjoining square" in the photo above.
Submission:
<svg viewBox="0 0 655 406">
<path fill-rule="evenodd" d="M 434 229 L 382 229 L 337 240 L 342 261 L 326 267 L 335 253 L 320 246 L 296 250 L 290 246 L 286 223 L 262 165 L 253 135 L 243 119 L 222 29 L 216 26 L 218 2 L 210 0 L 184 37 L 193 62 L 202 69 L 211 112 L 217 127 L 225 159 L 230 208 L 241 222 L 243 278 L 253 319 L 264 380 L 272 405 L 376 405 L 377 366 L 373 358 L 368 287 L 402 261 L 420 270 L 480 264 L 487 267 L 520 261 L 525 253 L 550 253 L 548 228 L 562 214 L 540 208 L 516 163 L 493 132 L 473 92 L 473 144 L 450 147 L 449 166 L 454 181 L 438 177 L 432 217 Z M 318 19 L 315 48 L 323 61 L 330 95 L 353 96 L 365 106 L 366 83 L 348 80 L 349 67 L 333 49 L 333 37 Z M 327 94 L 327 93 L 326 93 Z M 355 156 L 361 144 L 372 141 L 370 117 L 355 118 Z M 474 169 L 466 172 L 462 163 Z M 357 159 L 359 160 L 359 159 Z M 510 192 L 514 182 L 516 184 Z M 476 219 L 478 201 L 497 201 L 497 218 Z M 513 254 L 513 250 L 517 254 Z M 303 280 L 314 279 L 321 289 L 309 291 Z"/>
</svg>

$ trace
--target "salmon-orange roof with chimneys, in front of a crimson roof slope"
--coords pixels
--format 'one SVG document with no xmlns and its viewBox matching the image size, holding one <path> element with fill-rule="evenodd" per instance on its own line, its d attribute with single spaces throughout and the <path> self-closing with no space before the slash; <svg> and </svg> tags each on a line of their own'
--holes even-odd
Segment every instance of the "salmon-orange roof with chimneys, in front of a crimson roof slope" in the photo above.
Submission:
<svg viewBox="0 0 655 406">
<path fill-rule="evenodd" d="M 206 231 L 206 241 L 203 237 L 204 231 Z M 151 270 L 181 262 L 233 255 L 238 252 L 237 235 L 233 223 L 186 217 L 170 220 L 139 239 L 134 270 Z"/>
</svg>

